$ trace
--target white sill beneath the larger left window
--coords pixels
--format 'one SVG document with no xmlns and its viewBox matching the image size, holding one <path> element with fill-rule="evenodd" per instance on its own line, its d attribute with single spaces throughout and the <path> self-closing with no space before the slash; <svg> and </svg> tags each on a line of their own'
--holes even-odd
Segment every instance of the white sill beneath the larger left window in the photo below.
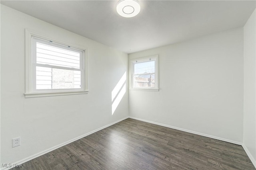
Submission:
<svg viewBox="0 0 256 170">
<path fill-rule="evenodd" d="M 78 91 L 78 92 L 52 92 L 52 93 L 25 93 L 25 98 L 39 98 L 48 96 L 64 96 L 64 95 L 74 95 L 74 94 L 88 94 L 88 91 Z"/>
</svg>

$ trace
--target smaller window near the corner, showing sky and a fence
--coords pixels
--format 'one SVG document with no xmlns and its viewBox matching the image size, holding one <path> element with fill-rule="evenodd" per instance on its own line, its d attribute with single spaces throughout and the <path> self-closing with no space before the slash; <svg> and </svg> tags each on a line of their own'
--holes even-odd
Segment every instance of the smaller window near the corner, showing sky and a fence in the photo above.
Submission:
<svg viewBox="0 0 256 170">
<path fill-rule="evenodd" d="M 158 91 L 158 56 L 131 61 L 131 88 Z"/>
</svg>

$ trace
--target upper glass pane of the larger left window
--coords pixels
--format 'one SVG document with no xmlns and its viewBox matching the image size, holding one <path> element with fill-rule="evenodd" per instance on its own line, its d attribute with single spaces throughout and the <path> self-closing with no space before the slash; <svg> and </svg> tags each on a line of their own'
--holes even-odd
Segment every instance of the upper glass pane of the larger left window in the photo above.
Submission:
<svg viewBox="0 0 256 170">
<path fill-rule="evenodd" d="M 80 68 L 80 53 L 37 42 L 36 63 Z"/>
</svg>

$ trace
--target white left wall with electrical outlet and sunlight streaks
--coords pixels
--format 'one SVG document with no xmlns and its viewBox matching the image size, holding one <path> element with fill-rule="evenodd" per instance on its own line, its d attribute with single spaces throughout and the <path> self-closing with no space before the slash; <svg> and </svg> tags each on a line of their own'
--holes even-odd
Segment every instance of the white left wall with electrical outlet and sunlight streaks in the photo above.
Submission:
<svg viewBox="0 0 256 170">
<path fill-rule="evenodd" d="M 88 49 L 88 94 L 24 98 L 25 28 Z M 1 163 L 13 163 L 128 116 L 128 90 L 111 92 L 128 55 L 1 5 Z M 12 138 L 21 146 L 12 148 Z"/>
</svg>

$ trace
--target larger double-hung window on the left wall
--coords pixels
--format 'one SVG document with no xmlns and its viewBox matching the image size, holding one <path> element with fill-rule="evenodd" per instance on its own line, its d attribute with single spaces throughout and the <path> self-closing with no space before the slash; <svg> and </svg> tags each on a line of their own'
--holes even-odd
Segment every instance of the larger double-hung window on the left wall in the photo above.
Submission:
<svg viewBox="0 0 256 170">
<path fill-rule="evenodd" d="M 26 34 L 26 97 L 87 92 L 84 49 Z"/>
</svg>

